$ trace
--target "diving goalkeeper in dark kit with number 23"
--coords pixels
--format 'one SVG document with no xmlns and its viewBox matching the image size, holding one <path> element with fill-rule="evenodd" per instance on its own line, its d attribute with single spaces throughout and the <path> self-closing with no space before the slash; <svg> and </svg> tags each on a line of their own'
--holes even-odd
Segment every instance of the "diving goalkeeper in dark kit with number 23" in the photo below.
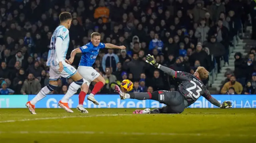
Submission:
<svg viewBox="0 0 256 143">
<path fill-rule="evenodd" d="M 135 110 L 134 114 L 180 114 L 184 109 L 194 102 L 202 95 L 210 103 L 220 108 L 231 108 L 232 104 L 230 101 L 224 101 L 222 104 L 213 98 L 209 91 L 204 86 L 202 80 L 208 78 L 209 72 L 204 67 L 198 67 L 194 74 L 190 74 L 183 71 L 174 71 L 168 67 L 164 67 L 156 63 L 156 59 L 152 55 L 146 56 L 146 62 L 154 67 L 166 72 L 167 74 L 179 78 L 181 80 L 180 85 L 178 86 L 177 91 L 166 91 L 159 90 L 155 92 L 134 92 L 134 93 L 125 93 L 122 92 L 120 87 L 116 85 L 116 91 L 120 94 L 120 98 L 124 99 L 137 99 L 137 100 L 156 100 L 160 103 L 165 104 L 166 106 L 154 110 L 145 109 L 145 110 Z"/>
</svg>

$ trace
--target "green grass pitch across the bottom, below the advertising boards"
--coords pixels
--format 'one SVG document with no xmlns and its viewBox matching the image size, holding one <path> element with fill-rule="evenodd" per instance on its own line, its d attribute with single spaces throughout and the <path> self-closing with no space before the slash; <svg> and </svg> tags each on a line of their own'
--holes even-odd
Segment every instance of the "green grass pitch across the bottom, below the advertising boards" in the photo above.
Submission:
<svg viewBox="0 0 256 143">
<path fill-rule="evenodd" d="M 31 115 L 27 109 L 0 109 L 0 143 L 256 142 L 256 109 L 144 115 L 131 114 L 134 109 L 88 111 L 36 109 L 37 115 Z"/>
</svg>

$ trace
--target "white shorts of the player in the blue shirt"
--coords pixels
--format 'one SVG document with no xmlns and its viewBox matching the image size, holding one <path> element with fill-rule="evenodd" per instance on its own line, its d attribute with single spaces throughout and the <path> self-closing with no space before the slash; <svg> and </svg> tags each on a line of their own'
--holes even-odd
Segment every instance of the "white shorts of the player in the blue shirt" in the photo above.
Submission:
<svg viewBox="0 0 256 143">
<path fill-rule="evenodd" d="M 92 67 L 79 66 L 77 71 L 84 78 L 84 83 L 86 83 L 88 86 L 90 86 L 93 80 L 100 76 L 100 73 Z"/>
</svg>

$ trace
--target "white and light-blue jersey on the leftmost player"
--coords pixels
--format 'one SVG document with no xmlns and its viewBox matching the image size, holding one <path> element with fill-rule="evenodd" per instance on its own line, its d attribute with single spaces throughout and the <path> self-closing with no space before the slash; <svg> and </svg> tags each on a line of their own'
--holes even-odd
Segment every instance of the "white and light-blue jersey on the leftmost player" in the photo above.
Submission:
<svg viewBox="0 0 256 143">
<path fill-rule="evenodd" d="M 68 51 L 68 44 L 69 44 L 69 31 L 66 27 L 64 27 L 63 25 L 60 25 L 54 30 L 52 34 L 50 49 L 48 52 L 48 59 L 46 62 L 47 66 L 57 66 L 59 63 L 56 55 L 56 50 L 55 50 L 55 42 L 57 37 L 60 37 L 63 40 L 61 45 L 60 55 L 63 58 L 63 60 L 66 59 L 66 54 Z"/>
</svg>

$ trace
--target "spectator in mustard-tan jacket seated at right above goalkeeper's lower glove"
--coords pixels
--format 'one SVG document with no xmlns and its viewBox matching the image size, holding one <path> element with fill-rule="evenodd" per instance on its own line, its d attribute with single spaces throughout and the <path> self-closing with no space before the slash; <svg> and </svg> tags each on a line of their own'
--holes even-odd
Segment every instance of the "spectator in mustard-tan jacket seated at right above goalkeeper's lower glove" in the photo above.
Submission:
<svg viewBox="0 0 256 143">
<path fill-rule="evenodd" d="M 234 75 L 232 75 L 230 77 L 230 81 L 229 82 L 226 82 L 224 84 L 224 86 L 222 87 L 221 89 L 221 94 L 226 94 L 229 90 L 230 87 L 233 87 L 234 88 L 234 91 L 237 93 L 237 94 L 241 94 L 242 91 L 243 91 L 243 86 L 242 84 L 240 84 L 239 82 L 236 81 L 236 77 Z"/>
</svg>

